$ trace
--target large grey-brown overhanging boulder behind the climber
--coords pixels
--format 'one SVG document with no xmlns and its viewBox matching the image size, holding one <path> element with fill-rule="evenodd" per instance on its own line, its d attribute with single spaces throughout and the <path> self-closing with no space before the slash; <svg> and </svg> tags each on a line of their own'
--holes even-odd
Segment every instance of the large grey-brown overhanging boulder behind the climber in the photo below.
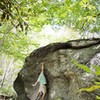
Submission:
<svg viewBox="0 0 100 100">
<path fill-rule="evenodd" d="M 14 82 L 17 99 L 35 100 L 39 85 L 33 87 L 32 84 L 44 62 L 48 83 L 45 100 L 95 100 L 95 92 L 78 92 L 80 88 L 92 85 L 95 76 L 77 68 L 73 59 L 94 71 L 93 65 L 100 65 L 100 39 L 53 43 L 33 51 Z"/>
</svg>

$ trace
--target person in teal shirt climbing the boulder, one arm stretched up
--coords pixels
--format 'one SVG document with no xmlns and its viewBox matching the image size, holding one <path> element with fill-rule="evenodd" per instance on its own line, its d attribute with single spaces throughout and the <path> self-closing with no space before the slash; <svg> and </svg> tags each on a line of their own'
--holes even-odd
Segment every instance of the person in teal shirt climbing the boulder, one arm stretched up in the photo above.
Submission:
<svg viewBox="0 0 100 100">
<path fill-rule="evenodd" d="M 47 82 L 46 82 L 46 77 L 45 77 L 45 75 L 44 75 L 44 63 L 42 63 L 42 70 L 41 70 L 41 73 L 40 73 L 40 75 L 39 75 L 39 77 L 38 77 L 38 80 L 35 82 L 35 84 L 33 84 L 32 86 L 36 86 L 37 85 L 37 83 L 39 82 L 40 83 L 40 86 L 39 86 L 39 91 L 38 91 L 38 93 L 37 93 L 37 96 L 36 96 L 36 98 L 39 96 L 39 94 L 42 92 L 43 93 L 43 95 L 42 95 L 42 100 L 44 100 L 44 98 L 45 98 L 45 94 L 46 94 L 46 84 L 47 84 Z"/>
</svg>

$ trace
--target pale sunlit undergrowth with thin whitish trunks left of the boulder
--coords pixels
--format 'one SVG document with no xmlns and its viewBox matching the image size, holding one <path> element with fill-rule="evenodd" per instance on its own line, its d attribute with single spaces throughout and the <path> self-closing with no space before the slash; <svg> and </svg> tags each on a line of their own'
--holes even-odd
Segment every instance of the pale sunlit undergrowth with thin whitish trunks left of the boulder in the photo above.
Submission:
<svg viewBox="0 0 100 100">
<path fill-rule="evenodd" d="M 0 56 L 0 94 L 15 96 L 13 82 L 22 65 L 21 60 L 15 62 L 14 58 L 10 58 L 6 54 Z"/>
</svg>

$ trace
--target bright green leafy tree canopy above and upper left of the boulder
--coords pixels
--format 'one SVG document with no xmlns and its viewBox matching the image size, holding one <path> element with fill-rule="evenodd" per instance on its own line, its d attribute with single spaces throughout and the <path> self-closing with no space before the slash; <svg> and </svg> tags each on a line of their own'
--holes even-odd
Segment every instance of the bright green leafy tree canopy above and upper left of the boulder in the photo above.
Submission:
<svg viewBox="0 0 100 100">
<path fill-rule="evenodd" d="M 23 60 L 28 54 L 26 51 L 29 51 L 28 44 L 32 46 L 24 34 L 40 31 L 44 25 L 98 33 L 99 3 L 98 0 L 1 0 L 0 53 Z"/>
</svg>

